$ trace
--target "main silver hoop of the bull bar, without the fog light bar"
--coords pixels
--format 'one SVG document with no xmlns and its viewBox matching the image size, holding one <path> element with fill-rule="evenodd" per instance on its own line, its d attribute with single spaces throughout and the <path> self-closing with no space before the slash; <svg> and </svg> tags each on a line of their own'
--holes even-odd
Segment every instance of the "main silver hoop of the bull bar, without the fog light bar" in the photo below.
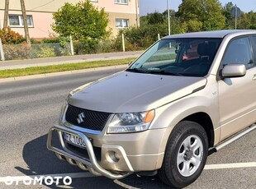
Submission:
<svg viewBox="0 0 256 189">
<path fill-rule="evenodd" d="M 60 150 L 58 148 L 56 148 L 55 146 L 52 145 L 52 139 L 53 139 L 53 133 L 54 131 L 58 132 L 59 135 L 59 141 L 60 144 L 62 145 L 64 150 Z M 72 151 L 68 150 L 65 147 L 64 144 L 64 139 L 62 137 L 62 133 L 68 133 L 71 134 L 73 136 L 78 136 L 80 137 L 84 144 L 86 145 L 86 150 L 88 151 L 88 156 L 89 159 L 85 159 L 83 157 L 78 156 L 77 154 L 74 154 Z M 109 171 L 107 171 L 106 169 L 102 168 L 98 163 L 97 163 L 97 159 L 96 156 L 94 154 L 94 150 L 92 147 L 92 143 L 91 141 L 88 139 L 87 136 L 85 136 L 82 132 L 79 131 L 74 131 L 72 129 L 69 129 L 68 127 L 61 127 L 56 125 L 55 127 L 51 127 L 50 131 L 48 133 L 48 137 L 47 137 L 47 149 L 54 151 L 55 154 L 58 155 L 63 155 L 66 159 L 73 159 L 77 164 L 85 164 L 89 170 L 90 173 L 92 173 L 93 175 L 96 176 L 105 176 L 111 179 L 121 179 L 123 177 L 127 177 L 128 175 L 130 175 L 131 173 L 124 173 L 124 174 L 116 174 L 116 173 L 111 173 Z M 59 156 L 60 157 L 60 156 Z M 78 166 L 80 167 L 80 166 Z M 83 170 L 85 170 L 86 168 L 83 168 Z"/>
</svg>

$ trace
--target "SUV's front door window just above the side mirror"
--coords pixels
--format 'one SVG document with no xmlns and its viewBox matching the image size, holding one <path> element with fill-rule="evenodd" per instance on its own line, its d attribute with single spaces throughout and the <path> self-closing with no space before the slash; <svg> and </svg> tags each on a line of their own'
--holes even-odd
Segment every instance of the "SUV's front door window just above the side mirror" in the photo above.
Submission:
<svg viewBox="0 0 256 189">
<path fill-rule="evenodd" d="M 249 69 L 254 67 L 253 55 L 249 38 L 239 38 L 231 41 L 226 49 L 222 64 L 244 64 Z"/>
</svg>

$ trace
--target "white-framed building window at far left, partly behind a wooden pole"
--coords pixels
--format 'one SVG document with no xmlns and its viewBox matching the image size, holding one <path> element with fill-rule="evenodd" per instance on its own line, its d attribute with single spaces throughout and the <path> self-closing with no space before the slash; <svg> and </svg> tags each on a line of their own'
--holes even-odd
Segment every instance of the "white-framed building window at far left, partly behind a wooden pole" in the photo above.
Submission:
<svg viewBox="0 0 256 189">
<path fill-rule="evenodd" d="M 33 19 L 31 15 L 26 16 L 26 22 L 29 27 L 33 27 Z M 23 27 L 23 16 L 22 15 L 9 15 L 9 25 L 12 27 Z"/>
</svg>

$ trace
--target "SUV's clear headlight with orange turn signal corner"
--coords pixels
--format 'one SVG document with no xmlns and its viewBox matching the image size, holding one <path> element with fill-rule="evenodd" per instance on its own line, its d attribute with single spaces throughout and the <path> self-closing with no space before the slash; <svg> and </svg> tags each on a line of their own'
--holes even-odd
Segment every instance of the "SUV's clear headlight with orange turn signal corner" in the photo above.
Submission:
<svg viewBox="0 0 256 189">
<path fill-rule="evenodd" d="M 154 110 L 143 113 L 118 113 L 107 128 L 107 133 L 140 132 L 149 129 L 154 119 Z"/>
</svg>

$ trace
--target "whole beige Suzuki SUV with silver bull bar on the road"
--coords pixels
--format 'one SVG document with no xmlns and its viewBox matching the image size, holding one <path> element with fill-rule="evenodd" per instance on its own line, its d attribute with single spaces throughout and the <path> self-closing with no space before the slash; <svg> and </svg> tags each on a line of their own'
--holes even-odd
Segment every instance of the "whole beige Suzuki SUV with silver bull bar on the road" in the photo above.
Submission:
<svg viewBox="0 0 256 189">
<path fill-rule="evenodd" d="M 209 150 L 256 128 L 255 62 L 255 30 L 167 36 L 125 71 L 70 92 L 47 147 L 95 175 L 186 187 Z"/>
</svg>

